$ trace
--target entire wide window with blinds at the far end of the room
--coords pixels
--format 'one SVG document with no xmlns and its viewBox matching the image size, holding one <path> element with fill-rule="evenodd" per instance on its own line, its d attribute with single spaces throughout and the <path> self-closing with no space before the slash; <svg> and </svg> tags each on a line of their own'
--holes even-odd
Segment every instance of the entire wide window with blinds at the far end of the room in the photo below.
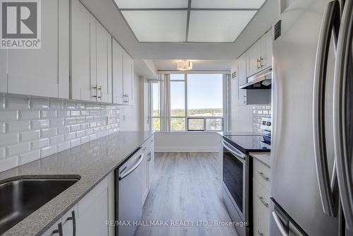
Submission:
<svg viewBox="0 0 353 236">
<path fill-rule="evenodd" d="M 150 82 L 152 130 L 222 131 L 225 78 L 222 73 L 161 74 Z"/>
</svg>

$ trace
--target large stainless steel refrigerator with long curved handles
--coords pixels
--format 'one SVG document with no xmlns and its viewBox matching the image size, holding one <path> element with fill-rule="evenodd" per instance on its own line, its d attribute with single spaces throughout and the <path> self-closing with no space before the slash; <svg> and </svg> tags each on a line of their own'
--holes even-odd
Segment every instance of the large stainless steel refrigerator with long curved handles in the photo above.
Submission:
<svg viewBox="0 0 353 236">
<path fill-rule="evenodd" d="M 275 24 L 270 235 L 353 235 L 353 0 Z"/>
</svg>

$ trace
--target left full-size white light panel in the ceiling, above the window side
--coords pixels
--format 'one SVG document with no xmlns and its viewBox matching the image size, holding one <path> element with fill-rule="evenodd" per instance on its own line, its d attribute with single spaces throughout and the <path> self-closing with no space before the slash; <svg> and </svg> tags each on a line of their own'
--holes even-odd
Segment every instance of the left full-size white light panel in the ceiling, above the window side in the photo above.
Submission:
<svg viewBox="0 0 353 236">
<path fill-rule="evenodd" d="M 140 42 L 184 42 L 187 11 L 121 11 Z"/>
</svg>

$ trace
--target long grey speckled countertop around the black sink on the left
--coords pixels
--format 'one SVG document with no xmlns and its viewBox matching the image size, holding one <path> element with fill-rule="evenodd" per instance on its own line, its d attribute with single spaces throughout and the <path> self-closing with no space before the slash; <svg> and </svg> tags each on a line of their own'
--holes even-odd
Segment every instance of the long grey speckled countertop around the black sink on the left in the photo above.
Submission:
<svg viewBox="0 0 353 236">
<path fill-rule="evenodd" d="M 80 177 L 78 182 L 6 231 L 4 236 L 44 233 L 152 134 L 150 131 L 119 131 L 1 172 L 0 184 L 28 177 Z"/>
</svg>

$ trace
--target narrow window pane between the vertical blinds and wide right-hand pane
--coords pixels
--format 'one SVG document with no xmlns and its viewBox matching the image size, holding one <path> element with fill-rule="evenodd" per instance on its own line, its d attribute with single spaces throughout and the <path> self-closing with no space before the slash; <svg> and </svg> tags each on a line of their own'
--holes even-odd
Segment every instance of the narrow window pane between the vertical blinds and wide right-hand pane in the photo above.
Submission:
<svg viewBox="0 0 353 236">
<path fill-rule="evenodd" d="M 170 130 L 185 131 L 185 76 L 170 75 Z"/>
</svg>

